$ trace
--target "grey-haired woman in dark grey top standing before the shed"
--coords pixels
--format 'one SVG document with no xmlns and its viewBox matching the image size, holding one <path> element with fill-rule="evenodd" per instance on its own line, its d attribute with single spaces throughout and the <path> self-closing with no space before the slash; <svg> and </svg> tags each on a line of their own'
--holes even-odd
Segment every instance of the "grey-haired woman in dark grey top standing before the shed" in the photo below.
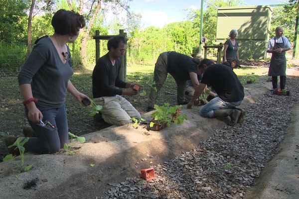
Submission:
<svg viewBox="0 0 299 199">
<path fill-rule="evenodd" d="M 223 51 L 223 63 L 226 61 L 239 60 L 239 52 L 238 47 L 239 44 L 236 41 L 236 37 L 238 36 L 237 30 L 231 30 L 229 33 L 229 39 L 224 43 L 224 51 Z"/>
</svg>

